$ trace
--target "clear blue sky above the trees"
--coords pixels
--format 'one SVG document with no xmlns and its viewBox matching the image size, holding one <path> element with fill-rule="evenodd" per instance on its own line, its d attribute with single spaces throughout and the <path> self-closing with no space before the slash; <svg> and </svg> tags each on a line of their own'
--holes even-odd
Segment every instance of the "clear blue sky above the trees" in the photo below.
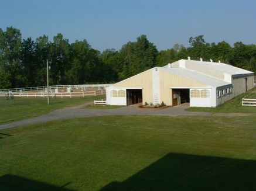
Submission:
<svg viewBox="0 0 256 191">
<path fill-rule="evenodd" d="M 207 42 L 256 43 L 256 1 L 1 0 L 0 27 L 13 26 L 22 37 L 62 33 L 72 43 L 86 39 L 100 51 L 146 34 L 158 50 L 190 36 Z"/>
</svg>

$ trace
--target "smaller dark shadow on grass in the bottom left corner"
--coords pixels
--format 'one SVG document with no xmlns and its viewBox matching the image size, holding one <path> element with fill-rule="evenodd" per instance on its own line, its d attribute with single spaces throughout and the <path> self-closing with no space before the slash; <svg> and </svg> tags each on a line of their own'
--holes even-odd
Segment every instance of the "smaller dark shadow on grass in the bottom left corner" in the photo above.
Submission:
<svg viewBox="0 0 256 191">
<path fill-rule="evenodd" d="M 63 186 L 54 186 L 36 180 L 30 180 L 21 176 L 6 174 L 0 177 L 0 190 L 70 190 Z"/>
</svg>

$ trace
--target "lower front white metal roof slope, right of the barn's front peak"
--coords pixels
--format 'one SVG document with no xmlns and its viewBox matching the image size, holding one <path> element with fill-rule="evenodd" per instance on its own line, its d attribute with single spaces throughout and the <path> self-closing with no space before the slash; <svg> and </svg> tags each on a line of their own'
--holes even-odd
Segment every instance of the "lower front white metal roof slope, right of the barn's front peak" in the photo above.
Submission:
<svg viewBox="0 0 256 191">
<path fill-rule="evenodd" d="M 209 75 L 200 74 L 198 72 L 187 70 L 186 68 L 169 68 L 169 67 L 160 67 L 162 70 L 171 72 L 173 74 L 193 79 L 194 81 L 202 82 L 203 84 L 212 86 L 212 87 L 219 87 L 224 85 L 230 85 L 229 82 L 210 77 Z"/>
</svg>

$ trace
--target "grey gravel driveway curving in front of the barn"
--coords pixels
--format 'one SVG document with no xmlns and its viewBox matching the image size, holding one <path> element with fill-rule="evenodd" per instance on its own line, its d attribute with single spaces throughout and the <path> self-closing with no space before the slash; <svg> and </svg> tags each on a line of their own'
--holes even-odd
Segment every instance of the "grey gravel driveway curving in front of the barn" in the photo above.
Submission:
<svg viewBox="0 0 256 191">
<path fill-rule="evenodd" d="M 0 130 L 12 127 L 27 126 L 45 121 L 54 121 L 62 119 L 72 119 L 77 117 L 93 117 L 93 116 L 111 116 L 111 115 L 161 115 L 161 116 L 209 116 L 208 112 L 187 112 L 184 107 L 166 107 L 163 109 L 140 109 L 138 105 L 118 107 L 115 109 L 88 109 L 83 108 L 91 103 L 85 103 L 80 106 L 65 107 L 63 109 L 54 110 L 53 112 L 42 116 L 33 117 L 13 123 L 0 125 Z"/>
</svg>

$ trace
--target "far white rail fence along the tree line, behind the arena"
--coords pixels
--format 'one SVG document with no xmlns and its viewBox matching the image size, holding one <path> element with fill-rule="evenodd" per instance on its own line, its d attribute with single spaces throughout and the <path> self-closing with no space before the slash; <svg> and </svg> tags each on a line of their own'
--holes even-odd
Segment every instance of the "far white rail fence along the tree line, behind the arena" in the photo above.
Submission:
<svg viewBox="0 0 256 191">
<path fill-rule="evenodd" d="M 107 88 L 112 84 L 80 84 L 80 85 L 50 85 L 49 89 L 54 88 Z M 18 92 L 22 91 L 35 91 L 40 89 L 45 89 L 47 86 L 35 86 L 35 87 L 27 87 L 27 88 L 10 88 L 10 89 L 0 89 L 0 92 Z"/>
</svg>

